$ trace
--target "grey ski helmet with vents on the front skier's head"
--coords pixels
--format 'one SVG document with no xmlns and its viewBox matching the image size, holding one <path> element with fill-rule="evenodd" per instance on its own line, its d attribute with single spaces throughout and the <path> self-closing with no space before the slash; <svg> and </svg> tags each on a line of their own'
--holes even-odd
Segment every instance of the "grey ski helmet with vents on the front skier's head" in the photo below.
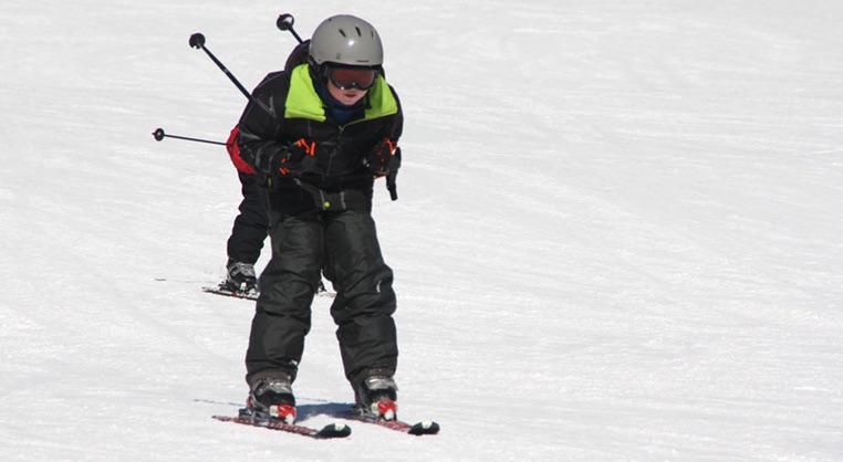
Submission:
<svg viewBox="0 0 843 462">
<path fill-rule="evenodd" d="M 372 24 L 357 17 L 339 14 L 322 21 L 313 32 L 310 57 L 316 66 L 335 63 L 375 67 L 384 62 L 384 48 Z"/>
</svg>

